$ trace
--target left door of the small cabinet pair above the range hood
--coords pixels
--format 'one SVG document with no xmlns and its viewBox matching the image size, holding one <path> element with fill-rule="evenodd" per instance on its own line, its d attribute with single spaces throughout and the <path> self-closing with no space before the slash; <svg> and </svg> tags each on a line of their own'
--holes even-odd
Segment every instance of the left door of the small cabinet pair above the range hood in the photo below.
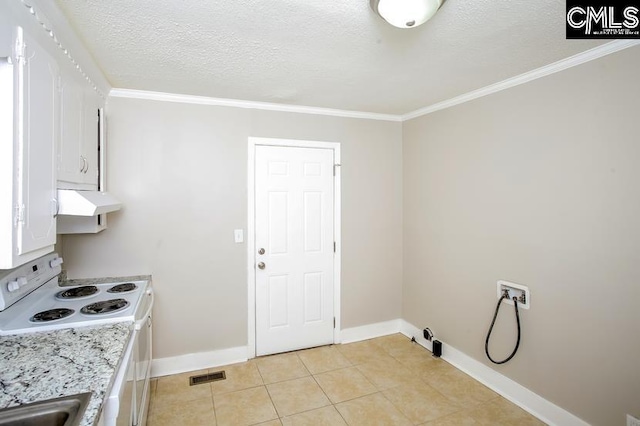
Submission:
<svg viewBox="0 0 640 426">
<path fill-rule="evenodd" d="M 81 182 L 82 120 L 84 93 L 82 86 L 67 75 L 60 78 L 60 145 L 58 148 L 58 180 Z"/>
</svg>

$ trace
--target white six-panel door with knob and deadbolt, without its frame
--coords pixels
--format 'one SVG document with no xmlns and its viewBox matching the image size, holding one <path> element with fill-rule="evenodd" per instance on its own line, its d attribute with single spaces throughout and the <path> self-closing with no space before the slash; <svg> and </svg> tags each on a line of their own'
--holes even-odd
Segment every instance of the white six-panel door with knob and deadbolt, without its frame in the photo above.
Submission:
<svg viewBox="0 0 640 426">
<path fill-rule="evenodd" d="M 333 343 L 333 156 L 255 148 L 256 355 Z"/>
</svg>

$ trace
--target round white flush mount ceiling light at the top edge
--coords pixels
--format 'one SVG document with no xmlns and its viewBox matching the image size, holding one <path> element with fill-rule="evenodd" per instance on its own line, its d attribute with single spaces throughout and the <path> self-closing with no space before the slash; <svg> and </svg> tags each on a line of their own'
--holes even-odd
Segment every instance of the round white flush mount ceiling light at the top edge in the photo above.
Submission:
<svg viewBox="0 0 640 426">
<path fill-rule="evenodd" d="M 370 0 L 371 9 L 398 28 L 422 25 L 436 14 L 445 0 Z"/>
</svg>

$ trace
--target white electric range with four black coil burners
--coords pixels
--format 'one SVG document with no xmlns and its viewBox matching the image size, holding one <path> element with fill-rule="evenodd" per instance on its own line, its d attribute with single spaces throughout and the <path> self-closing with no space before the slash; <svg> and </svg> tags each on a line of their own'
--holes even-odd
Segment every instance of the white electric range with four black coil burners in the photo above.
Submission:
<svg viewBox="0 0 640 426">
<path fill-rule="evenodd" d="M 0 336 L 132 322 L 132 338 L 103 402 L 100 424 L 144 426 L 150 396 L 153 289 L 147 280 L 58 285 L 51 253 L 0 270 Z M 84 281 L 84 280 L 83 280 Z M 87 282 L 101 280 L 87 280 Z"/>
</svg>

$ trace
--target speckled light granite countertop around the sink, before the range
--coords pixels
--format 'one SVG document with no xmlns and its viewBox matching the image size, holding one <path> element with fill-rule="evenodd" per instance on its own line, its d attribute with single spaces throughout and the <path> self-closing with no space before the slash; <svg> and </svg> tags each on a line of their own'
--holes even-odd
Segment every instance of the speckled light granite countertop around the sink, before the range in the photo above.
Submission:
<svg viewBox="0 0 640 426">
<path fill-rule="evenodd" d="M 0 408 L 91 392 L 82 426 L 97 423 L 133 322 L 0 337 Z"/>
</svg>

